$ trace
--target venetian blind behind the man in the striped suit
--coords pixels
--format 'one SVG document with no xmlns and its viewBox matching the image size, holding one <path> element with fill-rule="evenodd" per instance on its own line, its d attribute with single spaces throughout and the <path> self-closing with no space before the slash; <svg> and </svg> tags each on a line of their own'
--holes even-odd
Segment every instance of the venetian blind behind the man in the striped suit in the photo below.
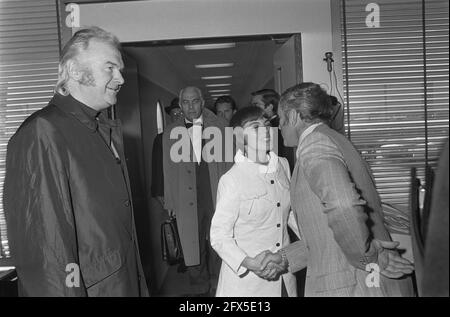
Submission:
<svg viewBox="0 0 450 317">
<path fill-rule="evenodd" d="M 410 168 L 423 180 L 448 138 L 449 2 L 376 1 L 369 28 L 371 2 L 341 2 L 346 125 L 383 202 L 407 206 Z"/>
</svg>

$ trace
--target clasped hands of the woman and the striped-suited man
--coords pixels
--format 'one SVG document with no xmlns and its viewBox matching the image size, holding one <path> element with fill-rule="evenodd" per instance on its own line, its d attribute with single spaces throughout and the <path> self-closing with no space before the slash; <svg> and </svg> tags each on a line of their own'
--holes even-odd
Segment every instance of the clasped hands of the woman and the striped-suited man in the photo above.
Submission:
<svg viewBox="0 0 450 317">
<path fill-rule="evenodd" d="M 266 250 L 254 258 L 247 256 L 242 261 L 242 266 L 260 278 L 273 281 L 278 279 L 281 274 L 287 272 L 288 262 L 279 252 L 272 253 Z"/>
</svg>

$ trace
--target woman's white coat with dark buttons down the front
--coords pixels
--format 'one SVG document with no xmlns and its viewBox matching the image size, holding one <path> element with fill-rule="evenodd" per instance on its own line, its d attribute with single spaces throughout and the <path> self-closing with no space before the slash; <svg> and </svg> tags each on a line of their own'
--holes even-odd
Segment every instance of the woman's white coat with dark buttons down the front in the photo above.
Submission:
<svg viewBox="0 0 450 317">
<path fill-rule="evenodd" d="M 241 266 L 245 257 L 289 244 L 289 165 L 270 153 L 268 166 L 251 162 L 241 152 L 219 181 L 211 245 L 222 258 L 216 296 L 279 297 L 281 279 L 289 296 L 297 296 L 292 273 L 267 281 Z M 294 228 L 296 230 L 296 228 Z"/>
</svg>

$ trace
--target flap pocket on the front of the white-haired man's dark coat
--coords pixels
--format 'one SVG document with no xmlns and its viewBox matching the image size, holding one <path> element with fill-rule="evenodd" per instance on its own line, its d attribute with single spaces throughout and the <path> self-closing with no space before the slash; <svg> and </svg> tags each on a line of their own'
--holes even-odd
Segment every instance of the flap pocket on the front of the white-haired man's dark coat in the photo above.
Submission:
<svg viewBox="0 0 450 317">
<path fill-rule="evenodd" d="M 109 250 L 92 261 L 90 265 L 82 268 L 86 288 L 92 287 L 116 273 L 122 267 L 122 263 L 119 250 Z"/>
</svg>

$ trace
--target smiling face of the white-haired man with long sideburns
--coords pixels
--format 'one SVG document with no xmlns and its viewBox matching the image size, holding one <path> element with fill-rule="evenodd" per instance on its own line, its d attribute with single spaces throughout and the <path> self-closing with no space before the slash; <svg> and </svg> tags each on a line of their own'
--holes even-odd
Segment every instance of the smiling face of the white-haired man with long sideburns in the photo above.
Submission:
<svg viewBox="0 0 450 317">
<path fill-rule="evenodd" d="M 117 93 L 124 83 L 120 52 L 110 44 L 93 39 L 76 60 L 78 99 L 98 111 L 116 104 Z"/>
</svg>

